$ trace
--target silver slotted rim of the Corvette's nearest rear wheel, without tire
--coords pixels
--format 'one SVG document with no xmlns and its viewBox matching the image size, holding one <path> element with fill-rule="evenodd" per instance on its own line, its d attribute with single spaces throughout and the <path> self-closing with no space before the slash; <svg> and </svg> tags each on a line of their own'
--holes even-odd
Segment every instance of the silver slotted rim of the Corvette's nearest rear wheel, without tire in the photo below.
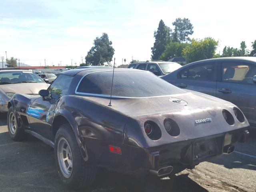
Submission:
<svg viewBox="0 0 256 192">
<path fill-rule="evenodd" d="M 73 158 L 68 141 L 63 137 L 58 141 L 57 156 L 63 176 L 69 178 L 73 170 Z"/>
</svg>

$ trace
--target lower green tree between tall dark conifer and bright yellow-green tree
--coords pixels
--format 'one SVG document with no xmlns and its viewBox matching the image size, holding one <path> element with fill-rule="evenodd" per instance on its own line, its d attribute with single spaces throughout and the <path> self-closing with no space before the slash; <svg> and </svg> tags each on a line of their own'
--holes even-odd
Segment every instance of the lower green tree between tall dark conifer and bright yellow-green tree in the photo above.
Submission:
<svg viewBox="0 0 256 192">
<path fill-rule="evenodd" d="M 170 41 L 170 43 L 166 46 L 165 51 L 162 53 L 159 59 L 168 61 L 170 58 L 173 57 L 181 57 L 182 51 L 184 48 L 186 48 L 186 46 L 188 46 L 188 43 L 178 43 Z"/>
</svg>

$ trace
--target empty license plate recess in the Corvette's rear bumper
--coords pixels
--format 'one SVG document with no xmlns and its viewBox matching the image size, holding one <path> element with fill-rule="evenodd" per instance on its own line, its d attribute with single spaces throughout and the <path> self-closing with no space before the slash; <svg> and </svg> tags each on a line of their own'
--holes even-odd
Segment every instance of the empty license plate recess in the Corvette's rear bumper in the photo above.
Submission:
<svg viewBox="0 0 256 192">
<path fill-rule="evenodd" d="M 204 138 L 194 141 L 193 144 L 193 164 L 222 154 L 224 136 Z"/>
</svg>

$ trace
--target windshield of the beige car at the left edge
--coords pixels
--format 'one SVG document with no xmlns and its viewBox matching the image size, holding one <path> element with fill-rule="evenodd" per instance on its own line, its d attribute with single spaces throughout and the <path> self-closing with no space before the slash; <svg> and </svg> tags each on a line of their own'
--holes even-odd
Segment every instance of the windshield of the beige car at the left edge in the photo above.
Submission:
<svg viewBox="0 0 256 192">
<path fill-rule="evenodd" d="M 40 77 L 30 71 L 0 72 L 0 84 L 44 82 Z"/>
</svg>

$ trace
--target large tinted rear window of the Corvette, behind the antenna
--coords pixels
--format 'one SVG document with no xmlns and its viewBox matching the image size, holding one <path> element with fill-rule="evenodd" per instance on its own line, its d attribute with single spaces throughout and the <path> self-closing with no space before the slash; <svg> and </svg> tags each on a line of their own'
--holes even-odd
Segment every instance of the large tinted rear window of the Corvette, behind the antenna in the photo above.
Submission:
<svg viewBox="0 0 256 192">
<path fill-rule="evenodd" d="M 109 96 L 112 74 L 112 71 L 88 74 L 82 79 L 77 92 Z M 114 72 L 113 96 L 140 98 L 182 93 L 186 93 L 186 91 L 158 78 L 150 72 Z"/>
</svg>

